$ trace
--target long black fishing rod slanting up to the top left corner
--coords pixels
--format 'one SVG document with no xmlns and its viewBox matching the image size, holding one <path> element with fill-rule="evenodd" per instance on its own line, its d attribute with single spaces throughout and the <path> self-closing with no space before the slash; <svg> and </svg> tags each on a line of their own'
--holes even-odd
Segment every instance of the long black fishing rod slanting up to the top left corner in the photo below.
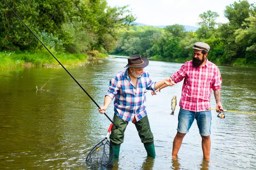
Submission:
<svg viewBox="0 0 256 170">
<path fill-rule="evenodd" d="M 3 0 L 3 2 L 12 10 L 12 8 L 6 3 L 5 0 Z M 32 34 L 38 39 L 38 41 L 41 42 L 41 44 L 47 49 L 47 51 L 49 51 L 49 53 L 52 55 L 52 57 L 54 57 L 54 58 L 57 60 L 57 62 L 64 68 L 64 70 L 67 71 L 67 69 L 61 64 L 61 62 L 52 54 L 52 52 L 44 45 L 44 43 L 35 35 L 35 33 L 23 22 L 23 20 L 21 20 L 21 18 L 16 14 L 16 12 L 13 11 L 13 10 L 12 10 L 12 12 L 20 19 L 20 21 L 26 26 L 26 28 L 28 28 L 29 31 L 32 32 Z M 99 105 L 93 100 L 93 98 L 87 93 L 87 91 L 85 91 L 84 88 L 79 84 L 79 82 L 76 81 L 76 79 L 70 74 L 70 72 L 67 71 L 67 73 L 73 78 L 73 80 L 76 82 L 76 84 L 78 84 L 79 87 L 87 94 L 87 96 L 90 97 L 90 99 L 94 102 L 94 104 L 95 104 L 99 109 L 101 109 L 100 106 L 99 106 Z M 110 122 L 111 122 L 113 125 L 116 126 L 116 124 L 108 117 L 108 115 L 107 115 L 106 113 L 104 113 L 104 114 L 105 114 L 105 116 L 110 120 Z M 116 128 L 118 128 L 118 127 L 116 126 Z"/>
</svg>

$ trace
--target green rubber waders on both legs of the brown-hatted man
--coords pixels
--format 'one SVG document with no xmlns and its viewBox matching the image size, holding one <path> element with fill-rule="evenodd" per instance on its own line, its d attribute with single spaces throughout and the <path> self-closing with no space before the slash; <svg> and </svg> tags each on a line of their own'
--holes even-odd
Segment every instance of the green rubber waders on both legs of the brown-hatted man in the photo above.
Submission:
<svg viewBox="0 0 256 170">
<path fill-rule="evenodd" d="M 128 125 L 128 122 L 120 119 L 116 114 L 114 114 L 113 122 L 117 125 L 118 129 L 115 126 L 111 129 L 110 143 L 113 146 L 114 156 L 119 156 L 120 145 L 124 142 L 125 129 Z M 148 122 L 148 116 L 144 116 L 138 122 L 135 122 L 134 125 L 139 133 L 140 140 L 144 144 L 145 150 L 148 153 L 148 156 L 155 157 L 154 149 L 154 136 L 150 130 L 150 125 Z"/>
</svg>

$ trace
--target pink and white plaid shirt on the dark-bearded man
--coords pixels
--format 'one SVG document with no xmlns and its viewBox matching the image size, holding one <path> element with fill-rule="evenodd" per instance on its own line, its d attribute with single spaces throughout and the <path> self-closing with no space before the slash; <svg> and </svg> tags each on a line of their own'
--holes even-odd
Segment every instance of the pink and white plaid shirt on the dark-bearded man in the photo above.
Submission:
<svg viewBox="0 0 256 170">
<path fill-rule="evenodd" d="M 199 112 L 211 108 L 211 89 L 221 89 L 221 73 L 208 59 L 203 67 L 198 68 L 192 66 L 192 60 L 185 62 L 171 77 L 175 83 L 184 79 L 180 108 L 188 111 Z"/>
</svg>

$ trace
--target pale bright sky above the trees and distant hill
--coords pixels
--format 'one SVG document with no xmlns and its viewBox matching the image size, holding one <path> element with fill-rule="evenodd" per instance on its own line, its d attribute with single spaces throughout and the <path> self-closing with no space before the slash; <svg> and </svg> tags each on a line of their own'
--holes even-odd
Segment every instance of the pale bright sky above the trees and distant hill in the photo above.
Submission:
<svg viewBox="0 0 256 170">
<path fill-rule="evenodd" d="M 197 26 L 199 14 L 208 10 L 217 12 L 220 17 L 218 23 L 227 23 L 224 17 L 226 6 L 239 0 L 107 0 L 108 5 L 129 5 L 132 14 L 137 17 L 135 22 L 151 26 L 168 26 L 180 24 L 186 26 Z M 256 3 L 256 0 L 247 0 Z"/>
</svg>

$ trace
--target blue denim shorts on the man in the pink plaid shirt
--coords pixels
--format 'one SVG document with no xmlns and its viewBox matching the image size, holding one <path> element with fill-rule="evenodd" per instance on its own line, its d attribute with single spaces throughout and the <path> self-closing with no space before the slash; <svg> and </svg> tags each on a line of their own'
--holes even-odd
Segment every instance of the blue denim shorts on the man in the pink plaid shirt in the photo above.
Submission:
<svg viewBox="0 0 256 170">
<path fill-rule="evenodd" d="M 178 116 L 178 132 L 188 133 L 195 119 L 198 125 L 199 133 L 202 136 L 209 136 L 211 134 L 211 111 L 194 112 L 180 108 Z"/>
</svg>

